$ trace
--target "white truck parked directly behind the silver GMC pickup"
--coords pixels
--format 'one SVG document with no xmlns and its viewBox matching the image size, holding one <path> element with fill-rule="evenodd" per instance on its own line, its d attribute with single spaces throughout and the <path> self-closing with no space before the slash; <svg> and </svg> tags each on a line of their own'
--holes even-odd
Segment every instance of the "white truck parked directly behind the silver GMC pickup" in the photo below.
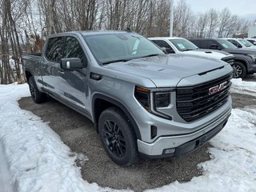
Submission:
<svg viewBox="0 0 256 192">
<path fill-rule="evenodd" d="M 231 66 L 234 64 L 234 55 L 221 50 L 202 50 L 194 43 L 188 41 L 186 38 L 170 38 L 158 37 L 149 38 L 158 46 L 165 48 L 168 54 L 190 54 L 206 58 L 215 58 L 229 63 Z"/>
</svg>

